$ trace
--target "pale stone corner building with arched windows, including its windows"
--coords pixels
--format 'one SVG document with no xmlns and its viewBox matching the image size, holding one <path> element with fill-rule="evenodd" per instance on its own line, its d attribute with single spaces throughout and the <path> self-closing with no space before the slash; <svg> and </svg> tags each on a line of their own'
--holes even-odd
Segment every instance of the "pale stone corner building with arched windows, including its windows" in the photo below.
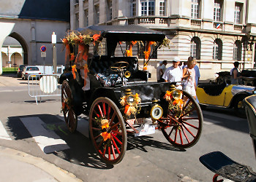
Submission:
<svg viewBox="0 0 256 182">
<path fill-rule="evenodd" d="M 134 24 L 162 31 L 173 44 L 150 61 L 152 79 L 159 61 L 192 55 L 207 80 L 236 60 L 241 69 L 255 67 L 255 9 L 255 0 L 70 0 L 70 28 Z"/>
</svg>

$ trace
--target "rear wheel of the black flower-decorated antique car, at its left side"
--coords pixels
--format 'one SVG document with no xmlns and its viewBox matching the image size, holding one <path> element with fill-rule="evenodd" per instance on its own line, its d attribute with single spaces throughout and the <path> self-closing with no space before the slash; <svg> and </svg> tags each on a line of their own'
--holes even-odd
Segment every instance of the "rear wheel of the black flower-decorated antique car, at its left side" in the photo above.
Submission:
<svg viewBox="0 0 256 182">
<path fill-rule="evenodd" d="M 64 119 L 70 132 L 75 132 L 78 126 L 78 116 L 75 114 L 72 107 L 72 91 L 69 87 L 69 82 L 64 80 L 61 87 L 61 104 Z"/>
</svg>

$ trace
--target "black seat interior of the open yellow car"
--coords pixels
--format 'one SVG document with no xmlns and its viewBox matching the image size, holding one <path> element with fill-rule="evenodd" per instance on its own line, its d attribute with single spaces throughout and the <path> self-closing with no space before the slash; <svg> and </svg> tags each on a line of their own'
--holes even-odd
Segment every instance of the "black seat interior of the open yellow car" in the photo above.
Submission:
<svg viewBox="0 0 256 182">
<path fill-rule="evenodd" d="M 206 94 L 211 96 L 221 95 L 222 91 L 226 87 L 226 82 L 222 84 L 198 84 L 198 87 L 203 88 Z"/>
</svg>

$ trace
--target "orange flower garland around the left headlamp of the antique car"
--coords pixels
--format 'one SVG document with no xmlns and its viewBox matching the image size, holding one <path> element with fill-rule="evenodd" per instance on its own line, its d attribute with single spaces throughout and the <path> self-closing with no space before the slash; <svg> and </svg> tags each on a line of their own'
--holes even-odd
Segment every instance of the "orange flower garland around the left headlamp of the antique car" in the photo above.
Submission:
<svg viewBox="0 0 256 182">
<path fill-rule="evenodd" d="M 121 98 L 121 106 L 124 106 L 124 114 L 127 116 L 130 116 L 131 114 L 136 114 L 138 112 L 138 104 L 141 102 L 141 99 L 138 95 L 138 93 L 135 94 L 135 104 L 133 106 L 129 106 L 127 103 L 127 98 L 129 95 L 124 95 L 124 97 Z"/>
</svg>

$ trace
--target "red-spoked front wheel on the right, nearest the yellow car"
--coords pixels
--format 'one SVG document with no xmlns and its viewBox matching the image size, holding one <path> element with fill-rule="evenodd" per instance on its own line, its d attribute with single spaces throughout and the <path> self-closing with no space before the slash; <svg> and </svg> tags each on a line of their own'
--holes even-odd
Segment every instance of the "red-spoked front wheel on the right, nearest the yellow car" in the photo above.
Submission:
<svg viewBox="0 0 256 182">
<path fill-rule="evenodd" d="M 158 121 L 167 141 L 173 146 L 185 149 L 194 146 L 199 140 L 203 114 L 195 98 L 187 92 L 182 92 L 184 103 L 181 109 L 169 106 L 167 116 L 162 116 Z"/>
</svg>

